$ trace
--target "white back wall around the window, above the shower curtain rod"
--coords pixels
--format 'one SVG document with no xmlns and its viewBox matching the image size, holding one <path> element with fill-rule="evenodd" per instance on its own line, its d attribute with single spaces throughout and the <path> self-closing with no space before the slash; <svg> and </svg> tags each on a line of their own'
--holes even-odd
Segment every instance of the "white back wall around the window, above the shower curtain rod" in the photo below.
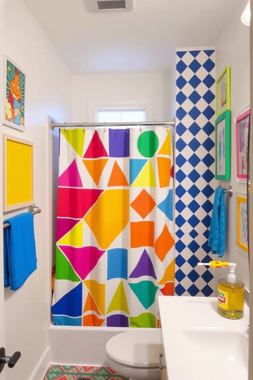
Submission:
<svg viewBox="0 0 253 380">
<path fill-rule="evenodd" d="M 73 122 L 94 122 L 95 106 L 122 100 L 147 105 L 146 121 L 171 119 L 170 73 L 97 74 L 73 77 Z"/>
</svg>

